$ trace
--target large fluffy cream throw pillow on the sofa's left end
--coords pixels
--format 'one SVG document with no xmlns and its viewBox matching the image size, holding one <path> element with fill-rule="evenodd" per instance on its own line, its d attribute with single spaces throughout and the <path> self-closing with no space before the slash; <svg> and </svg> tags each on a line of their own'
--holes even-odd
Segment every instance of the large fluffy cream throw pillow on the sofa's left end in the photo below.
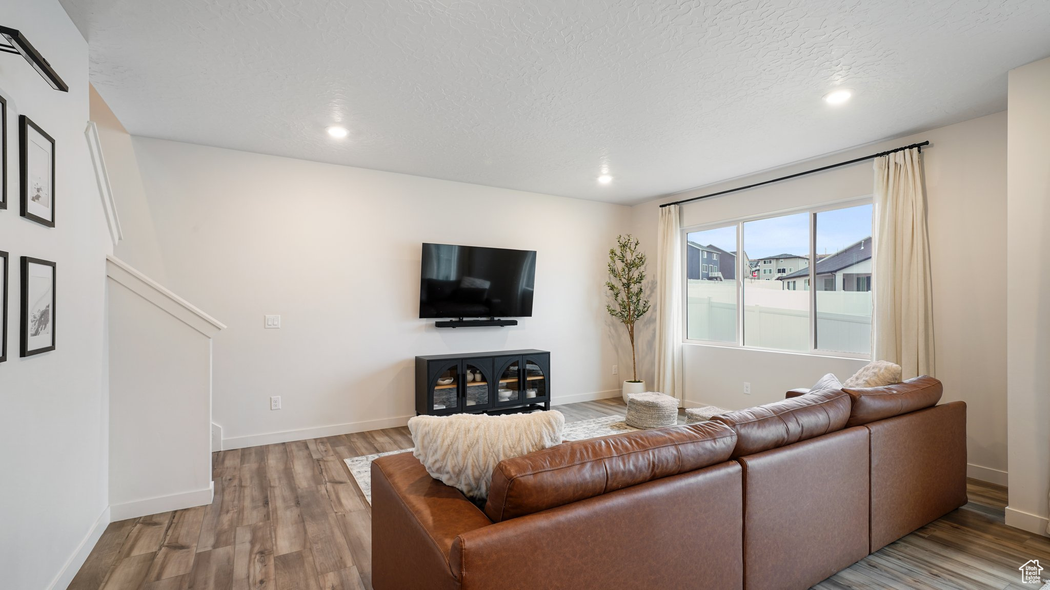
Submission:
<svg viewBox="0 0 1050 590">
<path fill-rule="evenodd" d="M 492 469 L 500 461 L 561 443 L 564 426 L 565 417 L 555 410 L 417 416 L 408 420 L 416 444 L 412 454 L 426 472 L 475 502 L 488 497 Z"/>
</svg>

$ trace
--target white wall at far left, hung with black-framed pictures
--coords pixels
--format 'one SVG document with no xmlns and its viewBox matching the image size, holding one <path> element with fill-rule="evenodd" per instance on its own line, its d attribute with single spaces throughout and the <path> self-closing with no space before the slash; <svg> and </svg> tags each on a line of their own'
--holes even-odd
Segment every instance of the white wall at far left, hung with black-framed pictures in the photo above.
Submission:
<svg viewBox="0 0 1050 590">
<path fill-rule="evenodd" d="M 108 523 L 106 502 L 105 255 L 109 238 L 84 128 L 87 43 L 56 0 L 3 3 L 69 85 L 51 89 L 21 57 L 0 57 L 7 99 L 8 208 L 0 250 L 10 254 L 7 361 L 0 363 L 0 587 L 65 588 Z M 19 216 L 18 114 L 56 140 L 56 223 Z M 57 350 L 19 358 L 19 257 L 57 264 Z"/>
</svg>

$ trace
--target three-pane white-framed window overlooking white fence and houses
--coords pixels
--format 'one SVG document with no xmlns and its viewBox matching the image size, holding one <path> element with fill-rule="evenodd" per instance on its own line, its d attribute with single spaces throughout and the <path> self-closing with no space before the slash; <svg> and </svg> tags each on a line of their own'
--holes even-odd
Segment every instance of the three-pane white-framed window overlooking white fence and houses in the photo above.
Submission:
<svg viewBox="0 0 1050 590">
<path fill-rule="evenodd" d="M 686 338 L 870 355 L 872 214 L 865 203 L 686 230 Z"/>
</svg>

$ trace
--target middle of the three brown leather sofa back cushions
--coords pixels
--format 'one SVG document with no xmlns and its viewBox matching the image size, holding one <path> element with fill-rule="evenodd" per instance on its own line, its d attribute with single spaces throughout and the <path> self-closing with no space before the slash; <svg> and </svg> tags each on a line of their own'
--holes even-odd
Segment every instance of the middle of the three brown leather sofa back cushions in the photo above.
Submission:
<svg viewBox="0 0 1050 590">
<path fill-rule="evenodd" d="M 841 430 L 848 419 L 849 396 L 833 388 L 815 389 L 797 398 L 712 418 L 736 431 L 733 457 L 754 455 Z"/>
</svg>

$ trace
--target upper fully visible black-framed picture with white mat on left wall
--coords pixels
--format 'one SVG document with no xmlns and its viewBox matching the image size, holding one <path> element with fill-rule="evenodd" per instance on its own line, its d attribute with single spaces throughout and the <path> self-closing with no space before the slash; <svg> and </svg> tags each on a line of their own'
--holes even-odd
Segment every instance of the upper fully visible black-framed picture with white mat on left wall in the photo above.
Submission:
<svg viewBox="0 0 1050 590">
<path fill-rule="evenodd" d="M 28 117 L 18 118 L 22 163 L 22 216 L 55 227 L 55 140 Z"/>
</svg>

